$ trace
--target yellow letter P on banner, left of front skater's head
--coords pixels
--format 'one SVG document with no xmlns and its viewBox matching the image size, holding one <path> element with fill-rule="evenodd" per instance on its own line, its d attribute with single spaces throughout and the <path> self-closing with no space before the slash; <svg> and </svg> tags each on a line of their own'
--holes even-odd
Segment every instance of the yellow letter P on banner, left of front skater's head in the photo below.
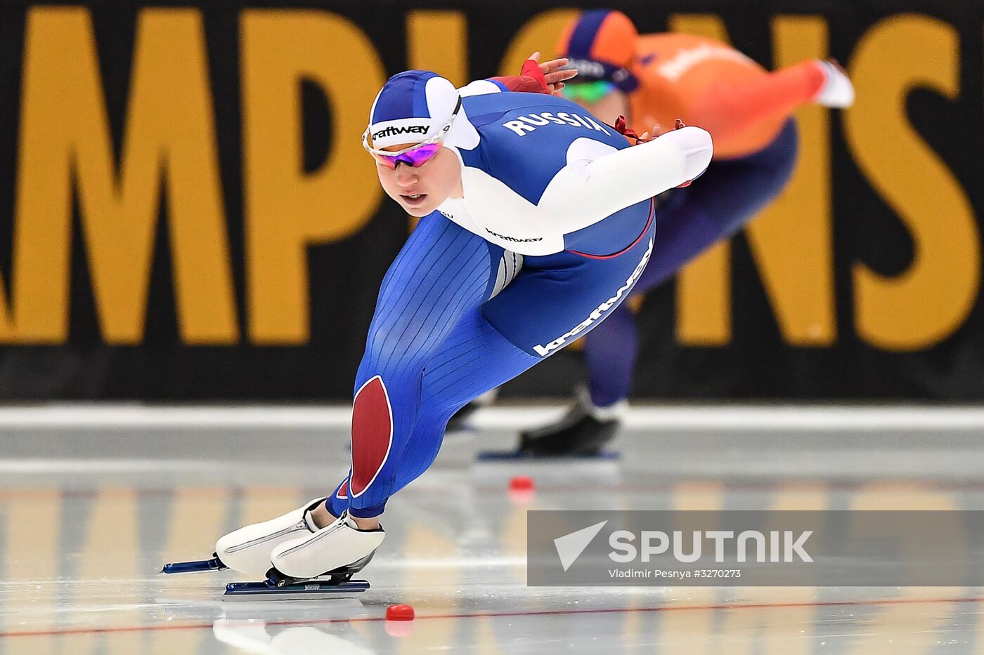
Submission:
<svg viewBox="0 0 984 655">
<path fill-rule="evenodd" d="M 241 32 L 249 333 L 257 343 L 304 343 L 306 249 L 351 235 L 382 196 L 359 139 L 383 64 L 361 30 L 329 12 L 250 10 Z M 302 81 L 332 107 L 332 146 L 311 173 L 302 163 Z"/>
</svg>

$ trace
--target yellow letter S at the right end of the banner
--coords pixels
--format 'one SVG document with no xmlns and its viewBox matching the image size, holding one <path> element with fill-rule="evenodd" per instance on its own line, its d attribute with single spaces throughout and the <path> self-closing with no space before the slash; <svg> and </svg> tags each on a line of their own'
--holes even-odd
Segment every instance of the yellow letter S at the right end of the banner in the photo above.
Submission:
<svg viewBox="0 0 984 655">
<path fill-rule="evenodd" d="M 853 268 L 858 334 L 886 350 L 939 343 L 960 327 L 977 298 L 980 237 L 973 209 L 905 110 L 906 96 L 917 87 L 958 95 L 959 48 L 950 25 L 902 15 L 868 30 L 851 60 L 859 92 L 844 121 L 847 141 L 914 242 L 912 264 L 899 275 L 862 263 Z"/>
</svg>

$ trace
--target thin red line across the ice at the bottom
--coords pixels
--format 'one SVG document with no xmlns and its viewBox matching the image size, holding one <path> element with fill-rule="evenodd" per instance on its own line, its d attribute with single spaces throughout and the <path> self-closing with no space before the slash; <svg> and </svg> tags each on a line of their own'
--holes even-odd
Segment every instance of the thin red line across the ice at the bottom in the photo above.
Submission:
<svg viewBox="0 0 984 655">
<path fill-rule="evenodd" d="M 277 602 L 277 601 L 271 601 Z M 497 617 L 553 617 L 587 614 L 642 614 L 653 612 L 713 612 L 717 610 L 776 610 L 791 608 L 815 607 L 878 607 L 892 605 L 940 605 L 944 603 L 981 603 L 984 596 L 964 598 L 885 598 L 857 601 L 817 601 L 817 602 L 788 602 L 788 603 L 719 603 L 713 605 L 661 605 L 659 607 L 638 608 L 598 608 L 585 610 L 541 610 L 532 612 L 475 612 L 470 614 L 425 614 L 417 615 L 414 621 L 441 619 L 494 619 Z M 371 624 L 385 622 L 386 617 L 356 617 L 354 619 L 315 619 L 295 621 L 268 621 L 264 625 L 331 625 L 331 624 Z M 105 634 L 112 632 L 154 632 L 164 630 L 201 630 L 212 629 L 209 624 L 178 624 L 178 625 L 125 625 L 121 627 L 67 627 L 52 630 L 11 630 L 0 631 L 0 639 L 32 636 L 65 636 L 70 634 Z M 250 621 L 227 621 L 232 625 L 252 625 Z"/>
</svg>

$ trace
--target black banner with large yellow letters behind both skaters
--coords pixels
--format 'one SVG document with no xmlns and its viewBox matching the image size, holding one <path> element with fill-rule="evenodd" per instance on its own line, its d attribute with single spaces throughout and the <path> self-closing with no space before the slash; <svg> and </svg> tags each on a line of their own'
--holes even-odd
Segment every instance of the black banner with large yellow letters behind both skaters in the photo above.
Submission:
<svg viewBox="0 0 984 655">
<path fill-rule="evenodd" d="M 358 138 L 406 68 L 552 51 L 579 3 L 0 6 L 0 397 L 342 399 L 408 225 Z M 588 6 L 588 5 L 584 5 Z M 635 394 L 984 398 L 984 6 L 622 2 L 844 62 L 785 195 L 639 303 Z M 578 380 L 564 351 L 507 394 Z"/>
</svg>

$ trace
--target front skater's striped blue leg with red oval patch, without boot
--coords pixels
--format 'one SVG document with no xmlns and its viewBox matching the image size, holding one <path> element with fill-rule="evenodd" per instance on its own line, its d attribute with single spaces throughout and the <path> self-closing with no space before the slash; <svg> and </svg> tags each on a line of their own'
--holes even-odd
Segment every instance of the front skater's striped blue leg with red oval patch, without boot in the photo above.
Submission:
<svg viewBox="0 0 984 655">
<path fill-rule="evenodd" d="M 502 249 L 440 214 L 417 225 L 387 272 L 352 402 L 351 471 L 329 506 L 356 518 L 383 513 L 417 421 L 427 362 L 461 319 L 491 295 Z M 339 502 L 340 501 L 340 502 Z"/>
</svg>

